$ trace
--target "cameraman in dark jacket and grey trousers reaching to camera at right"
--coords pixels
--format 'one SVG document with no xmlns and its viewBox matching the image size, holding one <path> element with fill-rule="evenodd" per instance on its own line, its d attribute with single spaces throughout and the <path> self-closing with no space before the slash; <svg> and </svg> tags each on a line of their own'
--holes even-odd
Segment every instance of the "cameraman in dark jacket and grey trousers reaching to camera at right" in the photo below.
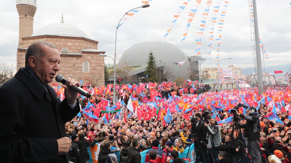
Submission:
<svg viewBox="0 0 291 163">
<path fill-rule="evenodd" d="M 248 138 L 247 148 L 251 157 L 251 163 L 262 162 L 260 155 L 260 119 L 257 109 L 251 107 L 248 114 L 239 114 L 237 110 L 233 113 L 233 115 L 238 115 L 247 121 L 244 126 L 244 137 Z"/>
</svg>

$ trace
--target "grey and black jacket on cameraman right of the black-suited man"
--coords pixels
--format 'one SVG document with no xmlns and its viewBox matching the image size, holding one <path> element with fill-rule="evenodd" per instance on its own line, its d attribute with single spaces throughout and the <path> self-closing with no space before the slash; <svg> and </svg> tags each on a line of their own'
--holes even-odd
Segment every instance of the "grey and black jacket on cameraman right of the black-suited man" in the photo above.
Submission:
<svg viewBox="0 0 291 163">
<path fill-rule="evenodd" d="M 216 123 L 214 124 L 214 126 L 208 125 L 206 128 L 209 133 L 209 137 L 211 138 L 211 139 L 210 138 L 208 139 L 208 146 L 212 148 L 212 143 L 211 143 L 211 140 L 212 140 L 214 147 L 220 147 L 221 134 L 220 134 L 219 125 Z"/>
</svg>

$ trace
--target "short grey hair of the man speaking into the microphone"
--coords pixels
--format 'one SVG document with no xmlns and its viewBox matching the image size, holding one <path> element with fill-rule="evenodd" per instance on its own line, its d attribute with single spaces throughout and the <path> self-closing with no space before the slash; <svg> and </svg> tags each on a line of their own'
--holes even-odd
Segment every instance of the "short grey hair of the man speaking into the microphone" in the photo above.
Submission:
<svg viewBox="0 0 291 163">
<path fill-rule="evenodd" d="M 34 43 L 30 44 L 29 47 L 26 50 L 26 53 L 25 53 L 25 65 L 28 64 L 28 58 L 30 56 L 36 57 L 36 59 L 38 60 L 38 63 L 39 63 L 41 58 L 45 55 L 45 52 L 43 50 L 44 46 L 48 46 L 48 47 L 51 47 L 51 48 L 58 49 L 54 44 L 50 44 L 50 43 L 48 43 L 46 41 L 34 42 Z"/>
</svg>

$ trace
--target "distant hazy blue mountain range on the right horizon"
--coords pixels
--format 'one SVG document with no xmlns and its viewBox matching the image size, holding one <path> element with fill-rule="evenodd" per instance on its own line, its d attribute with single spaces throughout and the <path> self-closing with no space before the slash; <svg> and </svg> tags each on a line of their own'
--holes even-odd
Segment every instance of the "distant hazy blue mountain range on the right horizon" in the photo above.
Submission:
<svg viewBox="0 0 291 163">
<path fill-rule="evenodd" d="M 266 73 L 274 73 L 274 71 L 281 70 L 283 72 L 290 72 L 291 70 L 291 64 L 282 64 L 282 65 L 276 65 L 276 66 L 271 66 L 271 67 L 266 67 L 265 72 Z M 264 73 L 264 68 L 262 68 L 262 72 Z M 244 75 L 251 75 L 254 73 L 254 68 L 249 67 L 249 68 L 243 68 L 242 69 L 242 74 Z M 283 76 L 283 73 L 275 74 L 275 76 Z"/>
</svg>

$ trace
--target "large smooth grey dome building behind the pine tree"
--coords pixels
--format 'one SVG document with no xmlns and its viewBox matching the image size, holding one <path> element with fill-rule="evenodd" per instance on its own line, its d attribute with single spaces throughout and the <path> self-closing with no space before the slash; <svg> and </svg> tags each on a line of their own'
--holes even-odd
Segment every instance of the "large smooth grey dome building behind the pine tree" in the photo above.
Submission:
<svg viewBox="0 0 291 163">
<path fill-rule="evenodd" d="M 148 54 L 152 51 L 154 53 L 157 64 L 161 61 L 164 62 L 165 67 L 173 70 L 174 78 L 183 77 L 187 79 L 189 61 L 185 53 L 177 46 L 162 41 L 149 41 L 135 44 L 129 47 L 120 57 L 120 63 L 127 63 L 129 66 L 142 66 L 146 65 Z M 173 62 L 184 61 L 183 66 L 174 65 Z M 168 80 L 173 80 L 171 77 Z"/>
</svg>

